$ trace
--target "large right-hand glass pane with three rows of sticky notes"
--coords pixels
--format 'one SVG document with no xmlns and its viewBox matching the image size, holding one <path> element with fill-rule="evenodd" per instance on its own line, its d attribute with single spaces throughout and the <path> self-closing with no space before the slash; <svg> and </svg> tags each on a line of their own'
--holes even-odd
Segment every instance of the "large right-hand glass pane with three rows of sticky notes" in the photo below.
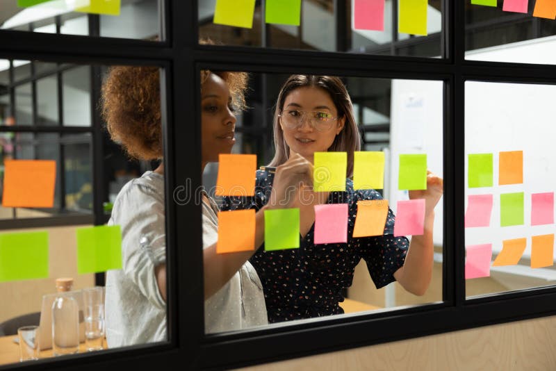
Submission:
<svg viewBox="0 0 556 371">
<path fill-rule="evenodd" d="M 466 296 L 552 285 L 556 86 L 465 88 Z"/>
</svg>

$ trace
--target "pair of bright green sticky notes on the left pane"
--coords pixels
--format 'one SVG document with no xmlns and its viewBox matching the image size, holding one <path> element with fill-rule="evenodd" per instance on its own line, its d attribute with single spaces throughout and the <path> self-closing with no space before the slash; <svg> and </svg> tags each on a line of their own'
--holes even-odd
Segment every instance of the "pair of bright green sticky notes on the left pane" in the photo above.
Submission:
<svg viewBox="0 0 556 371">
<path fill-rule="evenodd" d="M 76 229 L 77 272 L 122 268 L 120 226 Z M 49 277 L 49 233 L 0 233 L 0 282 Z"/>
</svg>

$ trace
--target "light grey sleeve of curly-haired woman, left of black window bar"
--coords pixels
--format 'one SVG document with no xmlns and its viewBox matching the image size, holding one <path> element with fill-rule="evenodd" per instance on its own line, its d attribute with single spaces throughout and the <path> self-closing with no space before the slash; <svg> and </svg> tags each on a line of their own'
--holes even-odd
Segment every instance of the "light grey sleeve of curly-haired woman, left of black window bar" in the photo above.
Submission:
<svg viewBox="0 0 556 371">
<path fill-rule="evenodd" d="M 138 290 L 158 308 L 165 302 L 154 267 L 166 261 L 164 201 L 148 186 L 137 183 L 118 195 L 110 224 L 122 230 L 122 269 Z"/>
</svg>

